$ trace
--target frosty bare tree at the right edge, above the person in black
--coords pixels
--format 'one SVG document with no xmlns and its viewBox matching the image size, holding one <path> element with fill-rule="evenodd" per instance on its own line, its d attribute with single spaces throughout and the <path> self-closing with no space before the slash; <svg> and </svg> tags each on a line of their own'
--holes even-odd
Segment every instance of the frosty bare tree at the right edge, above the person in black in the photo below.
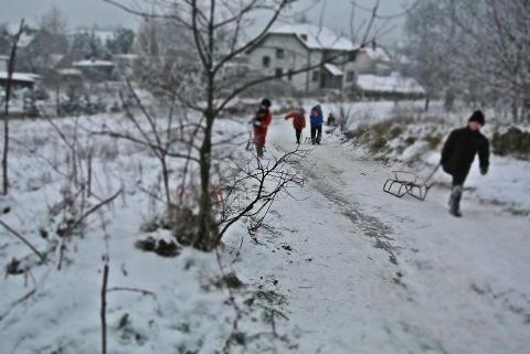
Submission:
<svg viewBox="0 0 530 354">
<path fill-rule="evenodd" d="M 512 121 L 530 100 L 530 3 L 526 0 L 458 2 L 454 66 L 481 101 L 504 101 Z M 527 34 L 523 34 L 527 33 Z"/>
</svg>

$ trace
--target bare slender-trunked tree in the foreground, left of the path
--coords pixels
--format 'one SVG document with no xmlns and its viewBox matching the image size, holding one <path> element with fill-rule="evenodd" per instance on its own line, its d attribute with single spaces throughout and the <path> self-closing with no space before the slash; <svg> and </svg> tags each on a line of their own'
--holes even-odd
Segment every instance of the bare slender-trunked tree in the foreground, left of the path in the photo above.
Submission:
<svg viewBox="0 0 530 354">
<path fill-rule="evenodd" d="M 198 146 L 198 163 L 200 174 L 199 218 L 193 246 L 199 249 L 211 250 L 219 243 L 218 222 L 215 219 L 212 203 L 212 160 L 213 127 L 223 110 L 237 95 L 248 88 L 278 79 L 276 74 L 265 76 L 239 77 L 239 81 L 230 81 L 226 76 L 226 67 L 245 52 L 253 49 L 265 39 L 268 31 L 277 22 L 280 15 L 289 9 L 296 0 L 245 0 L 245 1 L 220 1 L 220 0 L 172 0 L 162 2 L 149 2 L 151 11 L 144 11 L 139 7 L 131 7 L 119 0 L 104 0 L 117 6 L 129 13 L 145 19 L 158 19 L 177 24 L 191 39 L 187 43 L 189 53 L 193 54 L 193 66 L 186 68 L 186 73 L 177 73 L 174 81 L 162 88 L 171 92 L 182 106 L 199 111 L 203 117 Z M 377 17 L 378 4 L 373 8 L 372 18 Z M 267 15 L 265 24 L 248 36 L 246 28 L 254 18 Z M 369 21 L 364 29 L 364 35 L 359 49 L 372 43 L 374 21 Z M 151 32 L 151 35 L 152 32 Z M 351 52 L 341 52 L 329 55 L 319 63 L 308 64 L 282 76 L 296 75 L 337 60 L 349 61 Z M 279 77 L 279 78 L 280 78 Z M 226 84 L 230 83 L 230 86 Z"/>
</svg>

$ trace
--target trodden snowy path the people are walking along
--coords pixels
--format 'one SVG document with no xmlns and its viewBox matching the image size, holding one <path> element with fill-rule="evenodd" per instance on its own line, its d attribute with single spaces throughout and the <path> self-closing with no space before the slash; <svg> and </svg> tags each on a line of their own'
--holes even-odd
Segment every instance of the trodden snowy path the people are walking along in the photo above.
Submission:
<svg viewBox="0 0 530 354">
<path fill-rule="evenodd" d="M 272 132 L 272 150 L 295 147 L 288 124 Z M 381 192 L 388 169 L 333 142 L 300 168 L 300 200 L 275 204 L 278 233 L 239 267 L 279 281 L 299 353 L 528 353 L 528 217 L 468 195 L 455 219 L 439 187 L 394 199 Z"/>
</svg>

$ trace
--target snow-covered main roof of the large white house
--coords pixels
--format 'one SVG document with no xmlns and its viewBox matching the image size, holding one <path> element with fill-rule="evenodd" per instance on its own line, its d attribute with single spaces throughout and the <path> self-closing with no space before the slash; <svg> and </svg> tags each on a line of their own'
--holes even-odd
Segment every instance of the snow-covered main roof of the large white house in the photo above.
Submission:
<svg viewBox="0 0 530 354">
<path fill-rule="evenodd" d="M 314 24 L 286 24 L 268 33 L 294 34 L 311 50 L 352 51 L 358 47 L 348 37 Z"/>
</svg>

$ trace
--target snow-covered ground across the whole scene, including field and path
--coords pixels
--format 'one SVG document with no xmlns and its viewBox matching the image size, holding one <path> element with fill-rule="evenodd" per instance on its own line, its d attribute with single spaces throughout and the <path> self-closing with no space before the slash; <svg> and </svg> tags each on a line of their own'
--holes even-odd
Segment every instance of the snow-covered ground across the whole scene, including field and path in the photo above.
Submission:
<svg viewBox="0 0 530 354">
<path fill-rule="evenodd" d="M 305 103 L 306 110 L 314 104 Z M 393 103 L 348 108 L 352 128 L 384 121 L 396 109 Z M 244 131 L 246 119 L 216 130 Z M 455 115 L 448 125 L 463 119 Z M 377 161 L 325 135 L 322 146 L 304 146 L 311 150 L 299 163 L 306 185 L 273 205 L 255 235 L 258 244 L 243 224 L 226 235 L 221 269 L 215 255 L 184 248 L 163 258 L 135 248 L 146 236 L 169 240 L 171 234 L 140 232 L 161 210 L 153 196 L 161 189 L 159 167 L 149 150 L 89 133 L 104 125 L 130 129 L 120 116 L 55 124 L 68 137 L 77 130 L 80 146 L 94 149 L 94 195 L 83 205 L 124 192 L 87 218 L 83 235 L 61 239 L 55 230 L 80 213 L 61 207 L 77 197 L 65 176 L 67 148 L 47 121 L 12 122 L 12 190 L 0 200 L 1 221 L 50 250 L 50 261 L 38 265 L 25 245 L 0 229 L 0 261 L 20 270 L 0 280 L 0 353 L 99 353 L 105 258 L 113 354 L 528 353 L 529 162 L 494 157 L 487 176 L 474 165 L 464 218 L 455 219 L 443 172 L 425 202 L 382 192 L 394 169 L 428 174 L 436 151 L 411 168 L 399 159 Z M 276 116 L 266 159 L 292 151 L 294 141 L 292 124 Z M 171 178 L 177 189 L 179 175 Z M 232 271 L 244 286 L 229 291 L 220 279 Z"/>
</svg>

